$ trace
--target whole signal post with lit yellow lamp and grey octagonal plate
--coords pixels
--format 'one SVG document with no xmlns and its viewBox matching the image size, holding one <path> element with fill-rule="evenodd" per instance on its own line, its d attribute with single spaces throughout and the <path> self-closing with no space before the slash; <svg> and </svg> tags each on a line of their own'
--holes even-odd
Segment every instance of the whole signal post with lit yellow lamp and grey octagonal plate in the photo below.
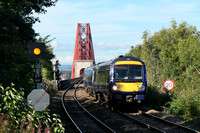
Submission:
<svg viewBox="0 0 200 133">
<path fill-rule="evenodd" d="M 49 94 L 41 89 L 40 60 L 45 59 L 45 43 L 30 43 L 28 49 L 30 59 L 35 61 L 34 82 L 36 84 L 36 89 L 32 90 L 27 97 L 28 105 L 33 106 L 35 111 L 43 111 L 50 104 Z"/>
</svg>

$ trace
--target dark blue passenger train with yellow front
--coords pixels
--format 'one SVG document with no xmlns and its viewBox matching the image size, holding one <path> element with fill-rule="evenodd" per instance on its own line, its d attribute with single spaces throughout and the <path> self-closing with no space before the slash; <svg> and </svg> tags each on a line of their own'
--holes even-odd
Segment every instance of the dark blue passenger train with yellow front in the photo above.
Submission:
<svg viewBox="0 0 200 133">
<path fill-rule="evenodd" d="M 138 58 L 120 56 L 86 68 L 83 84 L 90 95 L 104 103 L 141 103 L 147 91 L 146 66 Z"/>
</svg>

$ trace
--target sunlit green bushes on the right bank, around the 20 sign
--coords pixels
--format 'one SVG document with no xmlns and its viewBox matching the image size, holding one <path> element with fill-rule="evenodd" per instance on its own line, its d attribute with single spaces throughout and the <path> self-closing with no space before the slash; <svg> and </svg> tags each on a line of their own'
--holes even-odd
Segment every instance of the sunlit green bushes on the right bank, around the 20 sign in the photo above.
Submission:
<svg viewBox="0 0 200 133">
<path fill-rule="evenodd" d="M 186 119 L 200 114 L 199 38 L 200 32 L 195 26 L 186 22 L 177 25 L 172 20 L 170 28 L 162 28 L 153 35 L 144 31 L 143 43 L 131 47 L 126 54 L 146 63 L 148 93 L 153 92 L 147 98 L 154 100 L 151 104 L 165 105 L 168 112 Z M 170 92 L 162 86 L 166 79 L 175 83 Z"/>
</svg>

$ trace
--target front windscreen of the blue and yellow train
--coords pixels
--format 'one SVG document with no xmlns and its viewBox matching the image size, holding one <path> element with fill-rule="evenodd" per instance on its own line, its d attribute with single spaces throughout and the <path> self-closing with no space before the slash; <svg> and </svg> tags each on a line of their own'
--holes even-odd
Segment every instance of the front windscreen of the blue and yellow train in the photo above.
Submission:
<svg viewBox="0 0 200 133">
<path fill-rule="evenodd" d="M 142 82 L 142 65 L 115 65 L 116 82 Z"/>
</svg>

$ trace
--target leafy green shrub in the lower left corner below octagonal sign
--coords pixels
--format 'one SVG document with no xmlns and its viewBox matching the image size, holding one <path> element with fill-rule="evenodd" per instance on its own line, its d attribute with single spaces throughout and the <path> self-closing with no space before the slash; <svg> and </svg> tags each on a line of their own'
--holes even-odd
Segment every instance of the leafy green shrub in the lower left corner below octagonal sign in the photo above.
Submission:
<svg viewBox="0 0 200 133">
<path fill-rule="evenodd" d="M 0 86 L 0 133 L 65 132 L 58 115 L 54 114 L 52 121 L 48 110 L 34 111 L 25 103 L 23 90 L 13 86 Z"/>
</svg>

